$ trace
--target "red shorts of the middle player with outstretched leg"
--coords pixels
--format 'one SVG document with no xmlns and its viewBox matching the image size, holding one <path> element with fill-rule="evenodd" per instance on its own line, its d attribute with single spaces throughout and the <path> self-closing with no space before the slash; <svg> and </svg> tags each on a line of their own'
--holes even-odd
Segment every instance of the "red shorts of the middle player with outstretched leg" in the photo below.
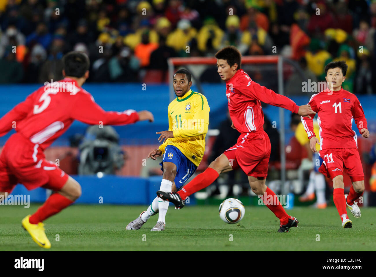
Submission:
<svg viewBox="0 0 376 277">
<path fill-rule="evenodd" d="M 248 138 L 249 136 L 252 138 Z M 248 176 L 266 178 L 270 150 L 269 137 L 262 130 L 258 133 L 242 133 L 237 144 L 223 154 L 229 159 L 233 170 L 240 167 Z"/>
</svg>

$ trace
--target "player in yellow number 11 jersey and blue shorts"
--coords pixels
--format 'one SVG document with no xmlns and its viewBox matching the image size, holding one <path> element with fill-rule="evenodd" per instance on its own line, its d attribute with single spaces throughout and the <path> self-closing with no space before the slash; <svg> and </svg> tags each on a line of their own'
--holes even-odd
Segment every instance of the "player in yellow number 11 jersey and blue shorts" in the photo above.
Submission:
<svg viewBox="0 0 376 277">
<path fill-rule="evenodd" d="M 159 190 L 165 192 L 179 190 L 196 171 L 205 152 L 210 108 L 205 96 L 191 90 L 191 78 L 186 69 L 177 70 L 174 74 L 177 97 L 168 105 L 168 130 L 157 132 L 160 135 L 158 141 L 163 143 L 148 155 L 148 158 L 156 160 L 163 154 L 163 179 Z M 163 231 L 168 204 L 170 202 L 155 197 L 147 211 L 130 222 L 126 230 L 141 228 L 150 216 L 159 213 L 152 231 Z"/>
</svg>

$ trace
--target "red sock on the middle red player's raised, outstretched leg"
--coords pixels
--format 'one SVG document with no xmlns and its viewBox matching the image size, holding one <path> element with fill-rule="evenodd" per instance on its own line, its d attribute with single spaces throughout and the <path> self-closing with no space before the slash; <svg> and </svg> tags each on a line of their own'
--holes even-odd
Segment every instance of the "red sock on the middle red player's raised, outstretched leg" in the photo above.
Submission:
<svg viewBox="0 0 376 277">
<path fill-rule="evenodd" d="M 190 196 L 196 191 L 202 190 L 203 188 L 208 187 L 212 182 L 215 181 L 219 176 L 217 170 L 208 167 L 203 173 L 197 175 L 191 182 L 186 184 L 179 193 L 180 197 L 184 200 L 185 197 Z"/>
</svg>

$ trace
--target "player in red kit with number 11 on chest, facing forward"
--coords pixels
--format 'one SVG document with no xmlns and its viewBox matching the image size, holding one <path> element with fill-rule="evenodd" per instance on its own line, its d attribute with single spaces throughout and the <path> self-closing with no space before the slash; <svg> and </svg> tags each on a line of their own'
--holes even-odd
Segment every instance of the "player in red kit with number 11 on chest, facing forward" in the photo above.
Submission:
<svg viewBox="0 0 376 277">
<path fill-rule="evenodd" d="M 333 201 L 340 214 L 343 228 L 351 228 L 352 221 L 347 216 L 346 205 L 355 217 L 361 212 L 355 202 L 364 191 L 364 173 L 358 152 L 356 133 L 351 129 L 353 119 L 362 137 L 368 138 L 367 119 L 358 98 L 342 88 L 347 64 L 345 61 L 331 62 L 326 65 L 326 90 L 312 95 L 309 100 L 312 110 L 317 112 L 319 134 L 313 131 L 312 118 L 302 118 L 310 139 L 310 147 L 316 152 L 315 145 L 320 144 L 319 155 L 324 160 L 319 171 L 333 180 Z M 343 171 L 349 174 L 352 187 L 344 194 Z"/>
</svg>

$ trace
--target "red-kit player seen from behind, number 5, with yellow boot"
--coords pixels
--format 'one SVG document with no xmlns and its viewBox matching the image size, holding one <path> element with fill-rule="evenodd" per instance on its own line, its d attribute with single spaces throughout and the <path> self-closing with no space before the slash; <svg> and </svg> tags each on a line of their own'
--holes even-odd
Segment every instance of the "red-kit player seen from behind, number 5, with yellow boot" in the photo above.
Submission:
<svg viewBox="0 0 376 277">
<path fill-rule="evenodd" d="M 6 141 L 0 155 L 0 200 L 5 199 L 18 183 L 28 190 L 44 187 L 56 192 L 33 215 L 22 220 L 23 227 L 43 248 L 50 248 L 51 243 L 44 233 L 42 222 L 81 195 L 78 182 L 47 161 L 43 151 L 75 119 L 104 125 L 154 120 L 148 111 L 105 112 L 94 102 L 91 94 L 81 88 L 89 77 L 87 55 L 70 52 L 63 62 L 63 80 L 39 88 L 0 119 L 0 136 L 12 128 L 17 131 Z"/>
</svg>

